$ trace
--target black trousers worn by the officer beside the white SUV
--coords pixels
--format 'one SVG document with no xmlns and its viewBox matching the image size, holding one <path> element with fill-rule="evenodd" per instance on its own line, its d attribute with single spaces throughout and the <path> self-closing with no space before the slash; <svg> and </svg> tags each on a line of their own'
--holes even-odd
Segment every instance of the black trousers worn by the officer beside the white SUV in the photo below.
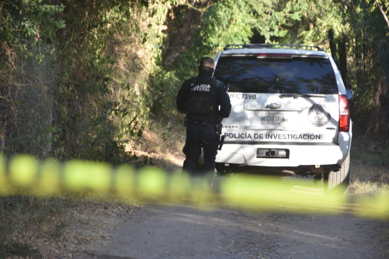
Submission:
<svg viewBox="0 0 389 259">
<path fill-rule="evenodd" d="M 186 156 L 182 170 L 191 174 L 213 173 L 218 144 L 215 125 L 188 125 L 186 127 L 185 146 L 182 150 Z M 201 170 L 194 171 L 201 154 L 201 148 L 203 148 L 205 164 Z"/>
</svg>

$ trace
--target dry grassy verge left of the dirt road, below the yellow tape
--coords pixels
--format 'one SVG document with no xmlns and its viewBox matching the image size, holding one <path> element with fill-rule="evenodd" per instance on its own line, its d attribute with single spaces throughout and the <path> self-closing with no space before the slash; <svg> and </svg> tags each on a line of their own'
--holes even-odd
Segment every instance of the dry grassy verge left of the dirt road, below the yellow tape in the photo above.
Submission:
<svg viewBox="0 0 389 259">
<path fill-rule="evenodd" d="M 84 238 L 104 238 L 97 226 L 114 225 L 128 217 L 133 204 L 139 201 L 114 195 L 37 198 L 26 193 L 0 197 L 0 258 L 70 257 L 74 251 L 87 249 L 80 243 Z M 114 221 L 107 222 L 112 218 Z"/>
</svg>

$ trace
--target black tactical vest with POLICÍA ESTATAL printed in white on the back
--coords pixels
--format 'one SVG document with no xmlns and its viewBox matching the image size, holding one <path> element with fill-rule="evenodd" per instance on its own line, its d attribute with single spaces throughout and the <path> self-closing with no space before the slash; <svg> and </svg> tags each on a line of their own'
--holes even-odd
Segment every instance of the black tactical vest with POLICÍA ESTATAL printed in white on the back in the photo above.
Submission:
<svg viewBox="0 0 389 259">
<path fill-rule="evenodd" d="M 190 87 L 186 91 L 186 107 L 188 114 L 218 115 L 219 105 L 216 96 L 216 79 L 198 79 L 192 77 Z"/>
</svg>

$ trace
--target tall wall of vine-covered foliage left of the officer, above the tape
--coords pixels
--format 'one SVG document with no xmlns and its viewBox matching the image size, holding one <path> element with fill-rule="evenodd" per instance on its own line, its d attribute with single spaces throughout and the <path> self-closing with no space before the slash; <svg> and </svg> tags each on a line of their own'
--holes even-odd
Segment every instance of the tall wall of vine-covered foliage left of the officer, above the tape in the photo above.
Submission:
<svg viewBox="0 0 389 259">
<path fill-rule="evenodd" d="M 125 144 L 127 137 L 142 135 L 149 115 L 147 78 L 158 52 L 148 62 L 139 53 L 160 41 L 150 40 L 162 34 L 150 23 L 156 5 L 49 2 L 1 5 L 5 153 L 137 161 Z"/>
</svg>

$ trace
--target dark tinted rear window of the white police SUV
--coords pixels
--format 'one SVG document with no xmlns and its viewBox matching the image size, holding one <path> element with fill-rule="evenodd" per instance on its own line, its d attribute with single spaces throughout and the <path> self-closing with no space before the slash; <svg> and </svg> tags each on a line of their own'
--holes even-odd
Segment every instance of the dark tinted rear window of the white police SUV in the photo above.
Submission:
<svg viewBox="0 0 389 259">
<path fill-rule="evenodd" d="M 230 84 L 230 92 L 338 93 L 328 58 L 221 56 L 214 76 L 224 84 Z"/>
</svg>

